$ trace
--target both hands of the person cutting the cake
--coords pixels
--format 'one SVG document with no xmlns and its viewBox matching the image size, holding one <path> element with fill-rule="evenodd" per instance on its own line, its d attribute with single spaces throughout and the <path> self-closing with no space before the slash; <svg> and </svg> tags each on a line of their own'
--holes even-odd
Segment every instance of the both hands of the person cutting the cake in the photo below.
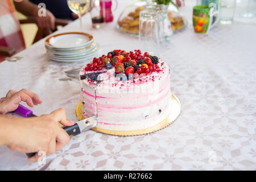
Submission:
<svg viewBox="0 0 256 182">
<path fill-rule="evenodd" d="M 0 146 L 23 153 L 44 151 L 46 155 L 61 150 L 70 137 L 57 122 L 64 126 L 72 126 L 75 122 L 66 119 L 64 109 L 32 118 L 6 115 L 17 109 L 22 101 L 30 107 L 42 103 L 37 94 L 26 89 L 10 90 L 5 98 L 0 99 Z M 36 154 L 28 160 L 36 162 L 40 158 L 42 156 Z"/>
</svg>

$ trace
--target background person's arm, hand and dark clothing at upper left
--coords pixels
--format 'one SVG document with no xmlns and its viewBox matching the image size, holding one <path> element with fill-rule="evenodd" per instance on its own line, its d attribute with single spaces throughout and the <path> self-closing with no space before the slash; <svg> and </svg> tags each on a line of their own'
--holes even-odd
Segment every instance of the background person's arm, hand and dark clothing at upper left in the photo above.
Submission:
<svg viewBox="0 0 256 182">
<path fill-rule="evenodd" d="M 40 3 L 46 5 L 46 16 L 39 16 L 38 11 L 42 7 L 38 7 Z M 51 28 L 55 30 L 55 18 L 74 20 L 77 17 L 69 9 L 67 1 L 65 0 L 23 0 L 14 1 L 17 11 L 26 15 L 34 16 L 40 28 Z"/>
</svg>

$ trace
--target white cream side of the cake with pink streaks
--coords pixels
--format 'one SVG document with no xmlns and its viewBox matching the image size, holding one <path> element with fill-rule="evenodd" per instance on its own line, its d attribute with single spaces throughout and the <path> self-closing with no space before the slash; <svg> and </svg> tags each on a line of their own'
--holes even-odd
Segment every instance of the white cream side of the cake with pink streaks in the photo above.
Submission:
<svg viewBox="0 0 256 182">
<path fill-rule="evenodd" d="M 131 131 L 146 129 L 163 121 L 171 109 L 170 69 L 159 59 L 159 71 L 120 81 L 114 70 L 102 70 L 97 85 L 98 125 L 104 130 Z M 80 76 L 85 75 L 84 67 Z M 92 80 L 80 78 L 82 114 L 97 113 Z"/>
</svg>

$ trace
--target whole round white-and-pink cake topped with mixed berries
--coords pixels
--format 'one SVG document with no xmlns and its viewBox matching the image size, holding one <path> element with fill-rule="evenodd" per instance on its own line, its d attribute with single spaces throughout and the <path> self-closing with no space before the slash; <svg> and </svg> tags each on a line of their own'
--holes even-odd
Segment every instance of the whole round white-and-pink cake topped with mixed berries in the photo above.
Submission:
<svg viewBox="0 0 256 182">
<path fill-rule="evenodd" d="M 94 57 L 80 71 L 82 115 L 98 114 L 102 130 L 134 131 L 162 122 L 171 110 L 170 69 L 140 50 Z"/>
</svg>

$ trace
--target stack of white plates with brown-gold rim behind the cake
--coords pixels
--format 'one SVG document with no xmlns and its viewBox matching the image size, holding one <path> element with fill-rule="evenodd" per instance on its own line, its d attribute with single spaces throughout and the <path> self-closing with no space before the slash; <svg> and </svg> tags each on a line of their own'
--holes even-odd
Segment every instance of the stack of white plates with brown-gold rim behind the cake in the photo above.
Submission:
<svg viewBox="0 0 256 182">
<path fill-rule="evenodd" d="M 100 56 L 101 46 L 84 32 L 67 32 L 50 36 L 44 42 L 47 56 L 55 61 L 86 61 Z"/>
</svg>

